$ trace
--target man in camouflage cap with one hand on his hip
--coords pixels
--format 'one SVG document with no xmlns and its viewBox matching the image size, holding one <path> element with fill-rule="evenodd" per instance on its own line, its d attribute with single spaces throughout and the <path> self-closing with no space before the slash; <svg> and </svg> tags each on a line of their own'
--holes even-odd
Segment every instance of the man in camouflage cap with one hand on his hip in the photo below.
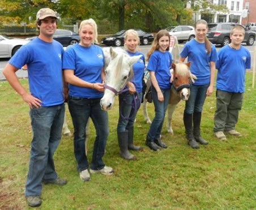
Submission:
<svg viewBox="0 0 256 210">
<path fill-rule="evenodd" d="M 66 185 L 66 179 L 58 177 L 53 154 L 61 140 L 65 113 L 62 82 L 62 45 L 53 40 L 57 28 L 56 13 L 41 8 L 36 15 L 40 35 L 15 53 L 3 75 L 30 107 L 33 130 L 31 157 L 25 197 L 28 205 L 41 205 L 43 183 Z M 29 92 L 19 82 L 15 72 L 27 64 Z"/>
</svg>

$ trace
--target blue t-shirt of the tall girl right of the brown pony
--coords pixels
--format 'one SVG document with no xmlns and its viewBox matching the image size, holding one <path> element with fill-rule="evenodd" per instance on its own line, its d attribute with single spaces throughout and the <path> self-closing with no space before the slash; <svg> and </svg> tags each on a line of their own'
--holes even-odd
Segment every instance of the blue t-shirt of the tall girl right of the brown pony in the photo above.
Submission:
<svg viewBox="0 0 256 210">
<path fill-rule="evenodd" d="M 205 43 L 199 43 L 195 40 L 187 42 L 180 53 L 182 58 L 187 58 L 191 62 L 190 71 L 197 76 L 194 85 L 210 84 L 210 62 L 216 62 L 217 52 L 213 44 L 211 44 L 211 53 L 207 55 Z"/>
</svg>

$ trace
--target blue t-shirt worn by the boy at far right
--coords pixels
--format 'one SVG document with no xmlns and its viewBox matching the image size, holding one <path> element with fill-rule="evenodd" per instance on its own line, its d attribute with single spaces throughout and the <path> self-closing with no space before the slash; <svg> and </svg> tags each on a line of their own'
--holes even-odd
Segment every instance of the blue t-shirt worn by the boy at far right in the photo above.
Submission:
<svg viewBox="0 0 256 210">
<path fill-rule="evenodd" d="M 217 81 L 216 89 L 221 91 L 242 93 L 245 92 L 245 70 L 251 67 L 251 56 L 248 49 L 232 49 L 224 46 L 217 52 L 219 61 L 216 62 Z"/>
</svg>

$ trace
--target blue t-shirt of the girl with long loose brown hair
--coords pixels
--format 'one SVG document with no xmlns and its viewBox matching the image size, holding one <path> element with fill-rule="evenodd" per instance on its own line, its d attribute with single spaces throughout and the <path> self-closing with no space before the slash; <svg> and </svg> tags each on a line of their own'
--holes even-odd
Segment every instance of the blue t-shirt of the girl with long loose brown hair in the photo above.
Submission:
<svg viewBox="0 0 256 210">
<path fill-rule="evenodd" d="M 172 64 L 172 54 L 155 50 L 148 61 L 147 70 L 155 71 L 155 76 L 160 89 L 170 88 L 170 65 Z"/>
</svg>

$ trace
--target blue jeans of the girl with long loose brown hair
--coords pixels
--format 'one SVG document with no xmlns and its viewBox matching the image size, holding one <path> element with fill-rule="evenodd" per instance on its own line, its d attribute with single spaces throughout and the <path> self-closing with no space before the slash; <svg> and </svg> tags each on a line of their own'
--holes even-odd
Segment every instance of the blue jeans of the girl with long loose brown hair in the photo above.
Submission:
<svg viewBox="0 0 256 210">
<path fill-rule="evenodd" d="M 160 102 L 157 98 L 156 89 L 152 85 L 152 98 L 153 104 L 155 106 L 155 118 L 152 121 L 150 126 L 150 130 L 147 134 L 147 139 L 153 141 L 154 139 L 159 139 L 161 135 L 161 130 L 164 123 L 164 116 L 167 110 L 167 106 L 169 103 L 170 97 L 170 88 L 169 89 L 161 89 L 164 95 L 164 101 Z"/>
</svg>

